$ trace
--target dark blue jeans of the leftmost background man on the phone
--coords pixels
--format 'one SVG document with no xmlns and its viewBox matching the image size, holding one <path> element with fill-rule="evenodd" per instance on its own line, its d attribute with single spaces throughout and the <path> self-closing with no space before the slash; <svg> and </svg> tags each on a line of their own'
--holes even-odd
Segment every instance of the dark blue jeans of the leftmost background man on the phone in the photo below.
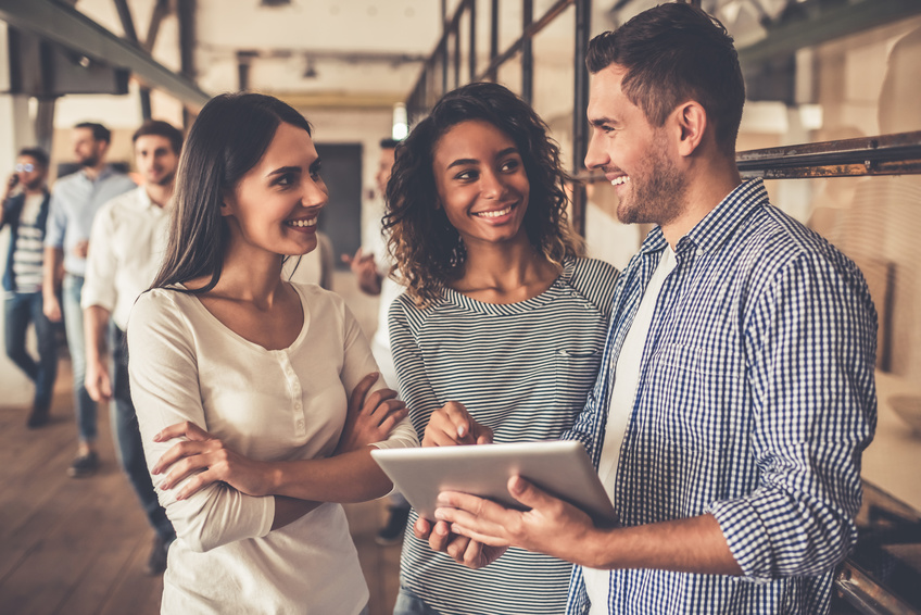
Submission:
<svg viewBox="0 0 921 615">
<path fill-rule="evenodd" d="M 5 302 L 4 339 L 7 356 L 35 382 L 33 409 L 51 407 L 54 378 L 58 376 L 58 343 L 54 325 L 41 311 L 41 292 L 16 292 Z M 26 330 L 31 322 L 38 340 L 38 362 L 26 351 Z"/>
</svg>

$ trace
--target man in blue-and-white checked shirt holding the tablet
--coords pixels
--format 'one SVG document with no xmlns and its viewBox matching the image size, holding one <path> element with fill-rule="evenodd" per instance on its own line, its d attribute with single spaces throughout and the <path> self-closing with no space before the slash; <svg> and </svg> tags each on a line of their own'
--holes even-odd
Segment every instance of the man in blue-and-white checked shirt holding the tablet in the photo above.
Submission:
<svg viewBox="0 0 921 615">
<path fill-rule="evenodd" d="M 658 225 L 616 283 L 571 432 L 621 526 L 516 477 L 530 512 L 443 493 L 436 516 L 475 542 L 450 548 L 442 526 L 430 543 L 468 565 L 509 544 L 575 562 L 569 613 L 825 613 L 875 427 L 866 283 L 741 180 L 744 85 L 721 24 L 663 4 L 592 40 L 586 64 L 585 165 L 615 187 L 622 222 Z"/>
</svg>

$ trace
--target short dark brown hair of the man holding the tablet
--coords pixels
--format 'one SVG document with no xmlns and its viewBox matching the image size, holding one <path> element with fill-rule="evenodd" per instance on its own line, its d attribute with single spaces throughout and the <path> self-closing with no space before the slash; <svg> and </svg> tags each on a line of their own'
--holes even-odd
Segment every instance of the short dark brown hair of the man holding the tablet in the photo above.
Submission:
<svg viewBox="0 0 921 615">
<path fill-rule="evenodd" d="M 745 81 L 732 37 L 718 20 L 678 2 L 644 11 L 589 42 L 589 72 L 610 64 L 627 71 L 621 89 L 651 124 L 661 126 L 676 106 L 695 100 L 714 124 L 717 143 L 734 152 Z"/>
</svg>

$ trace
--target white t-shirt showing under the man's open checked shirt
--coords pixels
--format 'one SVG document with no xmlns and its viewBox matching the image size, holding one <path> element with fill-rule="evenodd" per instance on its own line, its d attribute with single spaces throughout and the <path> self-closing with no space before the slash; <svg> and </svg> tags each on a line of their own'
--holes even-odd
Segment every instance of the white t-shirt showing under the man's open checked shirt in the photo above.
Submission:
<svg viewBox="0 0 921 615">
<path fill-rule="evenodd" d="M 610 404 L 608 406 L 610 412 L 605 425 L 605 439 L 602 445 L 602 457 L 598 462 L 598 478 L 601 478 L 602 485 L 604 485 L 611 500 L 614 499 L 614 482 L 617 478 L 617 464 L 620 461 L 620 445 L 623 443 L 623 436 L 627 434 L 627 427 L 630 424 L 630 414 L 633 411 L 633 401 L 636 398 L 636 387 L 640 384 L 640 363 L 643 359 L 643 349 L 646 346 L 646 338 L 653 323 L 653 313 L 656 310 L 659 292 L 674 265 L 674 251 L 667 246 L 658 267 L 656 267 L 649 284 L 646 286 L 643 300 L 636 309 L 636 316 L 630 325 L 630 331 L 627 334 L 620 355 L 617 357 L 617 366 L 610 376 L 614 378 L 614 387 L 610 391 Z M 582 575 L 585 579 L 589 600 L 592 603 L 590 615 L 607 615 L 610 570 L 583 568 Z"/>
</svg>

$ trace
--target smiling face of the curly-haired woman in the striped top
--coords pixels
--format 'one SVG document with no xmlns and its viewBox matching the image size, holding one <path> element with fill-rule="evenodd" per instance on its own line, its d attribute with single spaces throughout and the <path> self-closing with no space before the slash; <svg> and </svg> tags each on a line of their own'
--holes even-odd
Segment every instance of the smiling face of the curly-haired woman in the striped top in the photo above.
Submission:
<svg viewBox="0 0 921 615">
<path fill-rule="evenodd" d="M 527 241 L 522 222 L 530 184 L 505 133 L 479 120 L 453 126 L 436 143 L 432 172 L 440 205 L 468 249 Z"/>
</svg>

